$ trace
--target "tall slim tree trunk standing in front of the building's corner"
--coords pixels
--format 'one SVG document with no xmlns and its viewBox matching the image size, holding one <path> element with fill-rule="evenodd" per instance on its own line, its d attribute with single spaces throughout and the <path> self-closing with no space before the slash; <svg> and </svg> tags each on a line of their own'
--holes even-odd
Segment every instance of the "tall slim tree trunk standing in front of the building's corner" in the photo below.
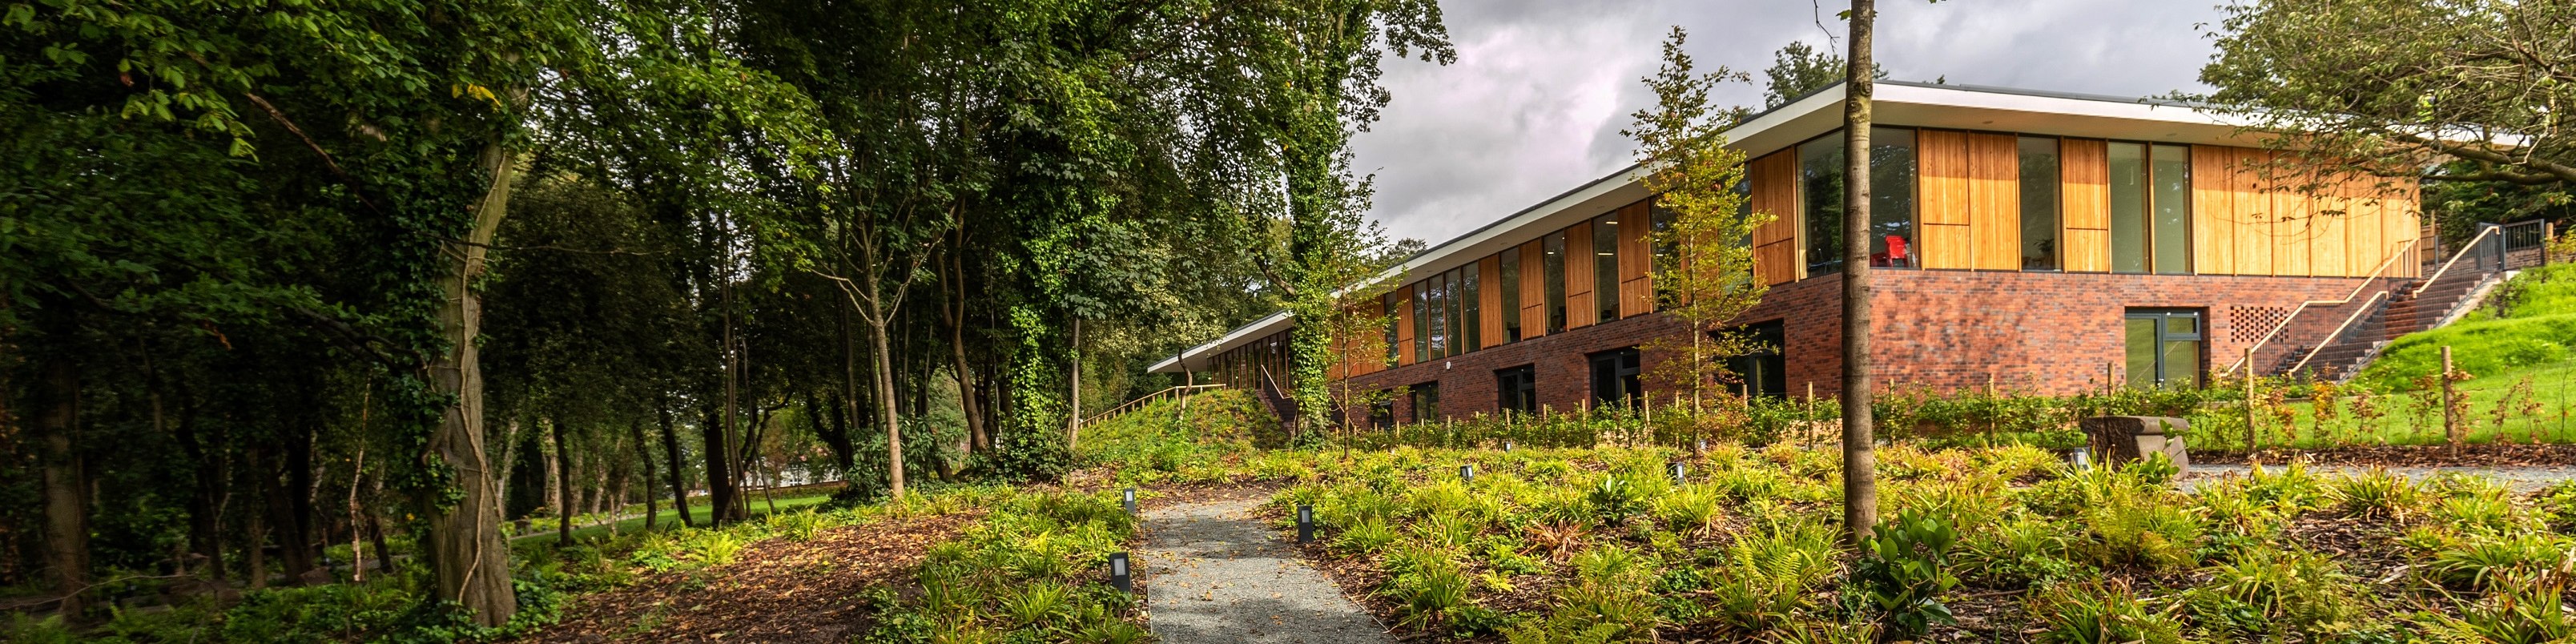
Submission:
<svg viewBox="0 0 2576 644">
<path fill-rule="evenodd" d="M 1852 0 L 1852 54 L 1842 100 L 1842 526 L 1857 544 L 1878 526 L 1878 456 L 1870 428 L 1870 23 Z"/>
</svg>

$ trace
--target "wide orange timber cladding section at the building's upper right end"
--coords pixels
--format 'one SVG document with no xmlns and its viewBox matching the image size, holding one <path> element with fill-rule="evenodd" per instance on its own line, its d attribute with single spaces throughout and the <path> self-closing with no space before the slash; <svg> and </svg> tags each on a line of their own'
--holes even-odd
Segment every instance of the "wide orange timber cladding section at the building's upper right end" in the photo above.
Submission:
<svg viewBox="0 0 2576 644">
<path fill-rule="evenodd" d="M 2370 175 L 2282 173 L 2251 147 L 2192 147 L 2192 229 L 2205 276 L 2414 276 L 2398 252 L 2416 227 L 2414 191 Z M 2311 193 L 2313 188 L 2313 193 Z"/>
</svg>

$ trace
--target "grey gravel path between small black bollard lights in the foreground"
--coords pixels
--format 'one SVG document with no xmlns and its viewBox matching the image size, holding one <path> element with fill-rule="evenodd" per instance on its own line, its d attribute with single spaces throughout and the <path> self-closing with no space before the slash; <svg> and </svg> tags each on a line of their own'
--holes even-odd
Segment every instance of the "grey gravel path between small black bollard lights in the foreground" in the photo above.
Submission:
<svg viewBox="0 0 2576 644">
<path fill-rule="evenodd" d="M 1386 629 L 1273 538 L 1260 500 L 1146 513 L 1146 623 L 1164 644 L 1388 644 Z"/>
</svg>

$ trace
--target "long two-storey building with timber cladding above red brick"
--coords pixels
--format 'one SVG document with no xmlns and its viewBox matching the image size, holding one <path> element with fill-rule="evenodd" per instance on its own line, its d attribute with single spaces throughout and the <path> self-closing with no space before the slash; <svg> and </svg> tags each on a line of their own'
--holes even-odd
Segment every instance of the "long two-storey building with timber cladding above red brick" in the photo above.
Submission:
<svg viewBox="0 0 2576 644">
<path fill-rule="evenodd" d="M 2429 325 L 2476 283 L 2419 242 L 2414 180 L 2290 188 L 2287 155 L 2172 100 L 1878 82 L 1870 131 L 1870 345 L 1880 386 L 2066 394 L 2331 371 Z M 1834 394 L 1842 374 L 1842 88 L 1726 134 L 1752 162 L 1754 278 L 1734 358 L 1752 394 Z M 2295 170 L 2295 167 L 2293 167 Z M 1638 167 L 1507 214 L 1396 268 L 1396 420 L 1618 404 L 1656 384 L 1654 196 Z M 2287 173 L 2295 175 L 2295 173 Z M 2318 173 L 2324 175 L 2324 173 Z M 2421 309 L 2421 312 L 2416 312 Z M 1154 366 L 1275 397 L 1285 312 Z M 1811 389 L 1814 386 L 1814 389 Z"/>
</svg>

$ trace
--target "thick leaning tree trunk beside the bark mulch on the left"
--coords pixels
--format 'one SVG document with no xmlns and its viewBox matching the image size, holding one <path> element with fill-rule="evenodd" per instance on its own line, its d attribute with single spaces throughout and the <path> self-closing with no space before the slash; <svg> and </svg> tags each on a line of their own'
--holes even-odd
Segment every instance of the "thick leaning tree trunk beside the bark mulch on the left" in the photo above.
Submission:
<svg viewBox="0 0 2576 644">
<path fill-rule="evenodd" d="M 500 541 L 500 495 L 492 466 L 484 456 L 484 399 L 482 358 L 474 340 L 482 335 L 482 294 L 474 281 L 484 273 L 484 252 L 510 211 L 510 155 L 495 142 L 482 152 L 482 167 L 492 175 L 482 204 L 474 206 L 474 227 L 466 240 L 446 242 L 443 258 L 456 258 L 438 278 L 443 294 L 438 327 L 446 353 L 430 366 L 430 389 L 456 399 L 438 420 L 428 440 L 428 459 L 456 474 L 464 487 L 456 502 L 446 502 L 446 489 L 422 489 L 415 505 L 428 518 L 425 554 L 435 567 L 438 598 L 464 605 L 474 623 L 500 626 L 518 613 L 518 592 L 510 590 L 510 549 Z"/>
</svg>

